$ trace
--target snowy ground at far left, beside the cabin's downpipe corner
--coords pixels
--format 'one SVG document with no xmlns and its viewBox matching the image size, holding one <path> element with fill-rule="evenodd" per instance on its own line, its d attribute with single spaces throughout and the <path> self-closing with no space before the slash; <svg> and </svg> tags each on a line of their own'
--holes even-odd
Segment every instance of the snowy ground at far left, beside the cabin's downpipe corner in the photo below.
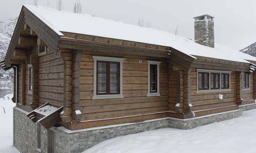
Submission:
<svg viewBox="0 0 256 153">
<path fill-rule="evenodd" d="M 8 100 L 9 97 L 9 100 Z M 0 98 L 0 153 L 20 153 L 13 145 L 13 107 L 15 103 L 11 101 L 13 94 L 5 96 L 5 100 Z M 5 112 L 3 108 L 5 108 Z"/>
</svg>

